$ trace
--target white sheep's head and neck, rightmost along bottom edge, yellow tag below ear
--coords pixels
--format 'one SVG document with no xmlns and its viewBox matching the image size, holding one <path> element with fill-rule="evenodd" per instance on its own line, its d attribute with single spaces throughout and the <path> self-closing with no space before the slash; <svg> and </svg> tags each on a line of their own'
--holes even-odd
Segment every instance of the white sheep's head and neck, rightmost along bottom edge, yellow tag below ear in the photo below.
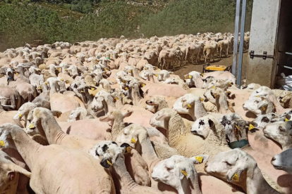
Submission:
<svg viewBox="0 0 292 194">
<path fill-rule="evenodd" d="M 240 186 L 248 194 L 279 193 L 264 179 L 253 157 L 239 148 L 210 158 L 205 164 L 205 171 L 207 174 Z"/>
</svg>

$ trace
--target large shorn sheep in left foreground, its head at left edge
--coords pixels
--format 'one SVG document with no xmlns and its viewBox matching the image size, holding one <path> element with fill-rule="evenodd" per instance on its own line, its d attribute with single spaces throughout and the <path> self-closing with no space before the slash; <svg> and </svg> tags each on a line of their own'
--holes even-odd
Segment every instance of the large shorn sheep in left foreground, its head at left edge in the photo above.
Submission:
<svg viewBox="0 0 292 194">
<path fill-rule="evenodd" d="M 4 148 L 18 150 L 28 164 L 32 171 L 31 176 L 28 174 L 31 177 L 30 187 L 35 193 L 53 194 L 56 190 L 61 193 L 99 193 L 100 190 L 106 193 L 116 192 L 109 172 L 87 153 L 60 145 L 40 145 L 13 124 L 1 125 L 0 137 Z M 80 177 L 66 179 L 67 175 L 73 177 L 76 173 L 62 165 L 66 163 L 79 169 Z"/>
</svg>

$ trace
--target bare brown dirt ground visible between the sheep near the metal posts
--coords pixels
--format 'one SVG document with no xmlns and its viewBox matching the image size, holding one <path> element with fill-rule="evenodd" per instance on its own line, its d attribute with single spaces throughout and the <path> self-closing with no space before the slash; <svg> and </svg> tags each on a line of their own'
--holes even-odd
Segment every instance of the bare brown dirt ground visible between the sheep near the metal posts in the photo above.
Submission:
<svg viewBox="0 0 292 194">
<path fill-rule="evenodd" d="M 248 67 L 248 51 L 245 51 L 243 53 L 243 68 L 241 72 L 241 81 L 246 78 L 246 71 Z M 211 65 L 232 65 L 233 63 L 233 55 L 230 55 L 228 58 L 215 58 L 215 62 L 211 62 Z M 202 62 L 200 65 L 193 65 L 193 64 L 187 64 L 183 67 L 181 67 L 178 70 L 174 70 L 174 74 L 179 75 L 183 79 L 184 75 L 187 75 L 191 71 L 196 72 L 202 72 L 202 65 L 204 65 Z"/>
</svg>

